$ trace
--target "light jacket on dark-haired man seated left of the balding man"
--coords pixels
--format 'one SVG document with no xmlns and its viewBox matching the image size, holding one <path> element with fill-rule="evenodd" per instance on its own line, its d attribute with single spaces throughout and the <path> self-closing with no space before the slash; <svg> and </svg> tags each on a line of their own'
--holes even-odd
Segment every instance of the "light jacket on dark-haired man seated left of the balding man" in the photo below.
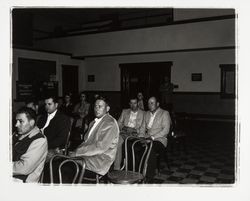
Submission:
<svg viewBox="0 0 250 201">
<path fill-rule="evenodd" d="M 122 130 L 122 128 L 124 126 L 128 126 L 130 112 L 131 112 L 131 109 L 122 110 L 122 114 L 121 114 L 120 118 L 118 119 L 118 125 L 119 125 L 120 130 Z M 144 119 L 144 113 L 145 112 L 143 110 L 138 109 L 138 113 L 136 116 L 136 125 L 135 125 L 135 129 L 136 129 L 137 133 L 139 133 L 140 128 L 142 126 L 142 122 Z"/>
</svg>

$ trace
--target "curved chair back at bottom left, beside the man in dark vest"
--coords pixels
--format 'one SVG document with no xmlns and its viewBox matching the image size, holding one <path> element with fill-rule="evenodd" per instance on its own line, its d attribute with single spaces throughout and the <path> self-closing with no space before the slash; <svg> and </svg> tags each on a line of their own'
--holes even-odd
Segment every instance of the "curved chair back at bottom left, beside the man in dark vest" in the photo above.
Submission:
<svg viewBox="0 0 250 201">
<path fill-rule="evenodd" d="M 57 163 L 56 163 L 57 161 Z M 85 172 L 85 161 L 82 157 L 69 157 L 65 155 L 55 155 L 50 159 L 50 183 L 54 183 L 54 171 L 58 171 L 59 175 L 59 183 L 63 183 L 63 167 L 66 166 L 66 164 L 72 164 L 74 168 L 71 168 L 71 173 L 73 174 L 73 179 L 70 183 L 81 183 L 83 179 L 83 175 Z M 55 171 L 55 172 L 57 172 Z M 67 181 L 68 183 L 69 181 Z"/>
</svg>

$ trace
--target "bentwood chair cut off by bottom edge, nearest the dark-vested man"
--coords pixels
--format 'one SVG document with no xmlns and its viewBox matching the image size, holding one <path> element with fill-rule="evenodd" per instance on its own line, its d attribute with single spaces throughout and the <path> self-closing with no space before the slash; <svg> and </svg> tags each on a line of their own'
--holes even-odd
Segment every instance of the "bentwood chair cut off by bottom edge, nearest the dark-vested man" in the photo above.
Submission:
<svg viewBox="0 0 250 201">
<path fill-rule="evenodd" d="M 63 169 L 65 168 L 68 168 L 68 170 L 70 171 L 63 171 Z M 82 157 L 69 157 L 58 154 L 50 159 L 49 170 L 50 170 L 50 183 L 52 184 L 81 183 L 85 172 L 85 161 Z M 65 180 L 64 178 L 67 178 L 67 180 Z"/>
</svg>

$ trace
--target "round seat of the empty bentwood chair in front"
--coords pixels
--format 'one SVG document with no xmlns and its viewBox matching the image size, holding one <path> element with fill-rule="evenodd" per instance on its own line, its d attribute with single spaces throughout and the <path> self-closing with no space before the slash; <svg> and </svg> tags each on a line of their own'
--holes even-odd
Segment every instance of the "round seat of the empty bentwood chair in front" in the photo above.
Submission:
<svg viewBox="0 0 250 201">
<path fill-rule="evenodd" d="M 111 183 L 115 184 L 134 184 L 144 179 L 139 172 L 114 170 L 108 173 L 108 178 Z"/>
</svg>

